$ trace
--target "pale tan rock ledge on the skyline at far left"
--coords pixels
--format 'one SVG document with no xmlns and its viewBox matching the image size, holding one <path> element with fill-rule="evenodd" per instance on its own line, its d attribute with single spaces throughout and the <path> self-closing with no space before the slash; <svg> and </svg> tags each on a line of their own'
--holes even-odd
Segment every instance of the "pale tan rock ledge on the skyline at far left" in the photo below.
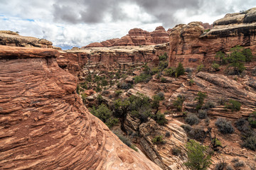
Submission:
<svg viewBox="0 0 256 170">
<path fill-rule="evenodd" d="M 10 30 L 0 30 L 0 45 L 9 45 L 15 47 L 53 47 L 53 43 L 48 40 L 21 36 L 18 35 L 18 33 L 14 33 Z"/>
</svg>

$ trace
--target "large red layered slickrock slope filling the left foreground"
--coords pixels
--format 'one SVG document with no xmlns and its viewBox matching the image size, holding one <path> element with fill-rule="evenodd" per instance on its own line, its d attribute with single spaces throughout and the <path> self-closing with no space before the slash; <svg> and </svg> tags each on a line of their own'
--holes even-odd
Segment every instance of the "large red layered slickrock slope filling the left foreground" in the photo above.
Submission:
<svg viewBox="0 0 256 170">
<path fill-rule="evenodd" d="M 57 51 L 0 54 L 0 169 L 160 169 L 82 106 Z"/>
</svg>

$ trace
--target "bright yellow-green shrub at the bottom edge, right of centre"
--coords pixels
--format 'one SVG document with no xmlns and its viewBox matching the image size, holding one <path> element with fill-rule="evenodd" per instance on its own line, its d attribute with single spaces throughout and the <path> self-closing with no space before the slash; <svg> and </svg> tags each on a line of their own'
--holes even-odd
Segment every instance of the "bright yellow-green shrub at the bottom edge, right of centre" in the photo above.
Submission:
<svg viewBox="0 0 256 170">
<path fill-rule="evenodd" d="M 190 140 L 186 145 L 186 149 L 188 161 L 185 163 L 185 166 L 187 166 L 188 169 L 206 170 L 210 164 L 212 164 L 210 154 L 206 153 L 208 147 L 200 145 L 195 140 Z"/>
</svg>

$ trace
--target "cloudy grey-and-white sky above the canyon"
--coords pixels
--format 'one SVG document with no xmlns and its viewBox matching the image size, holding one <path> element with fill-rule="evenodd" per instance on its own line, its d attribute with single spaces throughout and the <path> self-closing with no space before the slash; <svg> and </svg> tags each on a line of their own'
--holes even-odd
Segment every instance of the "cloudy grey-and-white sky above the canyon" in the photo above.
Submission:
<svg viewBox="0 0 256 170">
<path fill-rule="evenodd" d="M 45 38 L 67 49 L 121 38 L 132 28 L 213 23 L 225 13 L 255 6 L 255 0 L 0 0 L 0 30 Z"/>
</svg>

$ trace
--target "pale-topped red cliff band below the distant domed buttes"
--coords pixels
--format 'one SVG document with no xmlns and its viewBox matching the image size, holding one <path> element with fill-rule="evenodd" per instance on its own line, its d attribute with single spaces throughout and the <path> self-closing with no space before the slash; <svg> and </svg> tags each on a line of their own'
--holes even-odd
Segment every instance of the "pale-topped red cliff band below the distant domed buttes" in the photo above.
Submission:
<svg viewBox="0 0 256 170">
<path fill-rule="evenodd" d="M 142 65 L 144 62 L 157 64 L 159 62 L 158 56 L 163 55 L 164 52 L 168 53 L 168 51 L 168 44 L 141 47 L 92 47 L 83 50 L 68 50 L 65 56 L 77 55 L 79 65 L 85 65 L 87 69 L 109 71 L 111 69 L 128 69 L 134 65 Z"/>
</svg>

